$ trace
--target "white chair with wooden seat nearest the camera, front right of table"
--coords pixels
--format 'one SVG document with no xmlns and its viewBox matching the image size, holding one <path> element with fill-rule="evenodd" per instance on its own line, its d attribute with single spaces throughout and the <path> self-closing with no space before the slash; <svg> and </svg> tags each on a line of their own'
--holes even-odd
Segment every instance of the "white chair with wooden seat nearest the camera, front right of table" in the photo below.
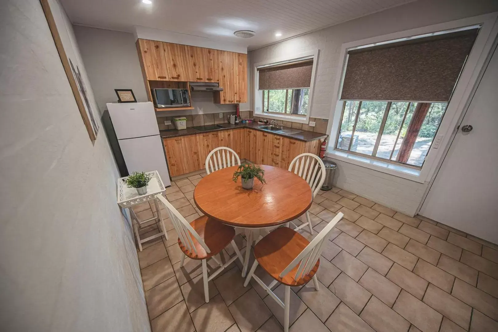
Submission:
<svg viewBox="0 0 498 332">
<path fill-rule="evenodd" d="M 318 291 L 316 272 L 320 265 L 319 257 L 325 241 L 328 241 L 327 234 L 342 217 L 343 214 L 339 213 L 311 242 L 291 228 L 280 227 L 272 230 L 254 246 L 256 259 L 249 270 L 244 286 L 249 284 L 250 278 L 254 278 L 284 309 L 284 332 L 289 331 L 290 287 L 304 285 L 313 279 L 315 289 Z M 261 265 L 275 279 L 268 286 L 254 275 L 254 270 L 258 265 Z M 285 285 L 284 302 L 271 291 L 271 288 L 278 282 Z"/>
</svg>

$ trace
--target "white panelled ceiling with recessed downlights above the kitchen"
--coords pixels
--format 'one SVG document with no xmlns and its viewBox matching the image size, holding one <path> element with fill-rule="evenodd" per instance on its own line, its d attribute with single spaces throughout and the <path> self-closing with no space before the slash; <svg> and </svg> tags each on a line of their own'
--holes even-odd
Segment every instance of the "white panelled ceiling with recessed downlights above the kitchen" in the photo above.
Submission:
<svg viewBox="0 0 498 332">
<path fill-rule="evenodd" d="M 134 25 L 208 37 L 249 50 L 413 0 L 60 0 L 73 23 L 133 32 Z M 253 30 L 249 39 L 236 30 Z M 276 37 L 276 32 L 281 37 Z"/>
</svg>

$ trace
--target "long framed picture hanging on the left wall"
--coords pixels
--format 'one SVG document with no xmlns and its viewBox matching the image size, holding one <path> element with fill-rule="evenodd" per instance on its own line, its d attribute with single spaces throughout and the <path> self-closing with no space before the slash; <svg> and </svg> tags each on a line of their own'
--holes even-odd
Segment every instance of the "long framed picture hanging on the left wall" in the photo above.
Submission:
<svg viewBox="0 0 498 332">
<path fill-rule="evenodd" d="M 40 0 L 76 104 L 92 142 L 99 133 L 98 107 L 90 87 L 71 21 L 58 0 Z"/>
</svg>

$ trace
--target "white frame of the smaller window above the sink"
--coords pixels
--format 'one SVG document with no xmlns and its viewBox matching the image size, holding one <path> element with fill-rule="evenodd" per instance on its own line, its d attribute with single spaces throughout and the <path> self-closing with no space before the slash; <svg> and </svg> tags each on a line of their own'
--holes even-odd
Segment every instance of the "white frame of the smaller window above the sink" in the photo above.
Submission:
<svg viewBox="0 0 498 332">
<path fill-rule="evenodd" d="M 314 91 L 314 83 L 315 83 L 315 77 L 316 77 L 316 69 L 318 66 L 318 53 L 319 50 L 315 49 L 313 51 L 308 51 L 308 52 L 303 52 L 303 53 L 298 53 L 295 54 L 292 57 L 277 57 L 277 58 L 271 58 L 267 59 L 266 61 L 254 63 L 252 67 L 253 71 L 253 106 L 254 106 L 254 115 L 255 116 L 261 116 L 261 117 L 267 117 L 275 120 L 282 120 L 282 121 L 292 121 L 292 122 L 300 122 L 300 123 L 306 123 L 308 124 L 310 114 L 312 111 L 312 105 L 313 105 L 313 91 Z M 262 100 L 262 90 L 258 90 L 258 83 L 259 83 L 259 74 L 258 74 L 258 68 L 264 68 L 264 67 L 271 67 L 275 65 L 281 65 L 281 64 L 287 64 L 287 63 L 292 63 L 292 62 L 297 62 L 297 61 L 302 61 L 302 60 L 313 60 L 313 65 L 312 65 L 312 72 L 311 72 L 311 82 L 310 82 L 310 87 L 309 87 L 309 95 L 308 95 L 308 108 L 306 111 L 306 115 L 302 114 L 287 114 L 287 113 L 277 113 L 277 112 L 263 112 L 263 100 Z M 281 89 L 284 90 L 284 89 Z M 286 90 L 291 90 L 291 89 L 286 89 Z"/>
</svg>

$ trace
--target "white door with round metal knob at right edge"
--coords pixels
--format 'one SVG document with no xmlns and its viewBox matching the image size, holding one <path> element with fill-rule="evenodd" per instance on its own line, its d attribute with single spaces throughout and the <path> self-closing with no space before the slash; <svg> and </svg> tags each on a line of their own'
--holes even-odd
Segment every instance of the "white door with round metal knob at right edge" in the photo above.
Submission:
<svg viewBox="0 0 498 332">
<path fill-rule="evenodd" d="M 498 52 L 495 50 L 420 215 L 498 243 Z M 469 130 L 471 125 L 472 130 Z"/>
</svg>

